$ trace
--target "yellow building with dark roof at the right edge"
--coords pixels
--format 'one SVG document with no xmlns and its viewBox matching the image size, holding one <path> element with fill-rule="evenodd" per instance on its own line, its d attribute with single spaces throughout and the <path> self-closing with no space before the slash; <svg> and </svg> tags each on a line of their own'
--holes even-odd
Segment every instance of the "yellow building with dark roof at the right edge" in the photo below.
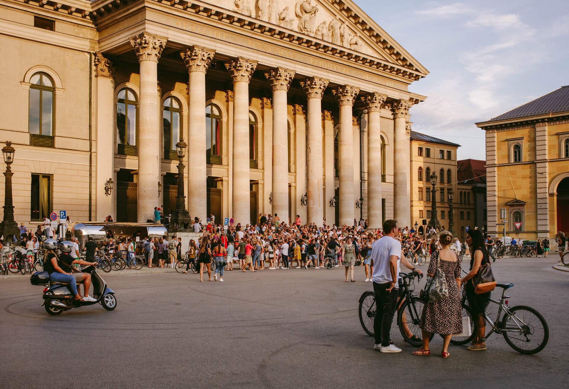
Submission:
<svg viewBox="0 0 569 389">
<path fill-rule="evenodd" d="M 488 121 L 488 233 L 521 239 L 569 234 L 569 85 Z M 519 223 L 519 231 L 516 224 Z"/>
</svg>

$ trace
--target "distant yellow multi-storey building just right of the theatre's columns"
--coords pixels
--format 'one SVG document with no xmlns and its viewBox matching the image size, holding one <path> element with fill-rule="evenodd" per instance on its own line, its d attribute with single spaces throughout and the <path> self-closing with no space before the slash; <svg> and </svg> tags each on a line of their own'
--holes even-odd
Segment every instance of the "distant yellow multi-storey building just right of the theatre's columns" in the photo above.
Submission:
<svg viewBox="0 0 569 389">
<path fill-rule="evenodd" d="M 431 219 L 431 189 L 430 175 L 435 173 L 436 182 L 436 211 L 440 228 L 448 228 L 448 189 L 452 187 L 455 193 L 453 202 L 457 203 L 456 185 L 456 150 L 460 145 L 439 138 L 411 131 L 411 223 L 419 225 L 419 233 L 423 233 Z M 469 187 L 468 187 L 469 189 Z M 467 190 L 467 189 L 464 189 Z M 443 200 L 443 201 L 442 201 Z M 456 204 L 457 205 L 457 204 Z M 454 208 L 455 230 L 457 226 L 457 207 Z M 401 226 L 403 227 L 403 226 Z M 409 226 L 411 227 L 411 226 Z"/>
</svg>

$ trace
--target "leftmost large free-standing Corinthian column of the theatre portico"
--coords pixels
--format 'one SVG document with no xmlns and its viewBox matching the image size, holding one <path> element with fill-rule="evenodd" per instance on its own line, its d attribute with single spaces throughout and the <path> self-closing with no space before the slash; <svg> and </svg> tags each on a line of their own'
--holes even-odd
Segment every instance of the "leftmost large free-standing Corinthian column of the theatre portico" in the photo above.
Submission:
<svg viewBox="0 0 569 389">
<path fill-rule="evenodd" d="M 158 59 L 166 46 L 166 38 L 148 32 L 130 38 L 140 64 L 140 104 L 138 114 L 138 191 L 137 219 L 139 223 L 154 219 L 160 181 L 160 142 L 158 118 Z M 118 204 L 121 206 L 121 204 Z"/>
</svg>

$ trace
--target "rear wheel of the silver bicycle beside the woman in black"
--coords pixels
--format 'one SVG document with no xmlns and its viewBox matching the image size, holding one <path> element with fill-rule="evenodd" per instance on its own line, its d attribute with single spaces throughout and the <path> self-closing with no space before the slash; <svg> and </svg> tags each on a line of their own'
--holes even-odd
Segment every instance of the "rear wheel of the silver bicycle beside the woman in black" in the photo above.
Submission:
<svg viewBox="0 0 569 389">
<path fill-rule="evenodd" d="M 549 340 L 549 327 L 541 313 L 525 305 L 510 308 L 502 318 L 502 331 L 506 343 L 522 354 L 539 353 Z"/>
</svg>

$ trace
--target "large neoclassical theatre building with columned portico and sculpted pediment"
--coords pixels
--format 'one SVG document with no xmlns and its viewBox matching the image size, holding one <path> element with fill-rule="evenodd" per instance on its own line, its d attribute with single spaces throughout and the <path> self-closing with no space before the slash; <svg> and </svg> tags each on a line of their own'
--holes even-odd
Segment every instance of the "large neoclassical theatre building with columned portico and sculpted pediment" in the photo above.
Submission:
<svg viewBox="0 0 569 389">
<path fill-rule="evenodd" d="M 0 0 L 0 39 L 17 222 L 168 213 L 180 138 L 192 218 L 413 222 L 428 71 L 351 0 Z"/>
</svg>

